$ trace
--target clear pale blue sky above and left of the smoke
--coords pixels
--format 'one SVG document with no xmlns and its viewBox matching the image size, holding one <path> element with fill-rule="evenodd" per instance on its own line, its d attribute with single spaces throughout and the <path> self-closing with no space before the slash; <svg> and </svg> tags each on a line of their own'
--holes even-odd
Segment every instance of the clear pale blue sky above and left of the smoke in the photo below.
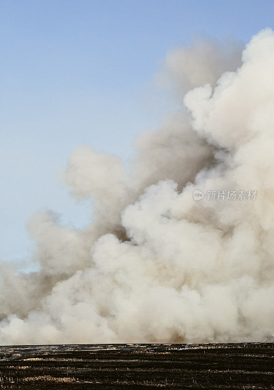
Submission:
<svg viewBox="0 0 274 390">
<path fill-rule="evenodd" d="M 195 36 L 246 43 L 273 24 L 273 0 L 0 0 L 0 258 L 30 253 L 36 210 L 87 224 L 90 204 L 56 168 L 83 143 L 130 156 L 166 108 L 152 79 L 168 51 Z"/>
</svg>

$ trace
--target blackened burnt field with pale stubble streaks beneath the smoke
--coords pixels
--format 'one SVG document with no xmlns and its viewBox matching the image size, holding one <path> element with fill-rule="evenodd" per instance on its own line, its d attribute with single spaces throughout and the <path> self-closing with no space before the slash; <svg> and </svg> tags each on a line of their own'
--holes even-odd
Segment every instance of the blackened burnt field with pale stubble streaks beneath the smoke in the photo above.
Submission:
<svg viewBox="0 0 274 390">
<path fill-rule="evenodd" d="M 273 389 L 273 343 L 0 347 L 0 389 Z"/>
</svg>

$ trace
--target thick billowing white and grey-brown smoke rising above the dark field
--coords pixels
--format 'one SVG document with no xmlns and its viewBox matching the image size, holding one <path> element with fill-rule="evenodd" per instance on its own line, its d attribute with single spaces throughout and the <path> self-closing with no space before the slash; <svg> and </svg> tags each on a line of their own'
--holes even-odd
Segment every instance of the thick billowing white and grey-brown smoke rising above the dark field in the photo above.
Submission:
<svg viewBox="0 0 274 390">
<path fill-rule="evenodd" d="M 165 75 L 188 90 L 184 107 L 137 139 L 130 173 L 89 147 L 69 158 L 65 181 L 94 198 L 95 222 L 34 215 L 39 271 L 2 266 L 0 344 L 273 334 L 274 33 L 254 36 L 242 62 L 237 46 L 180 49 Z"/>
</svg>

